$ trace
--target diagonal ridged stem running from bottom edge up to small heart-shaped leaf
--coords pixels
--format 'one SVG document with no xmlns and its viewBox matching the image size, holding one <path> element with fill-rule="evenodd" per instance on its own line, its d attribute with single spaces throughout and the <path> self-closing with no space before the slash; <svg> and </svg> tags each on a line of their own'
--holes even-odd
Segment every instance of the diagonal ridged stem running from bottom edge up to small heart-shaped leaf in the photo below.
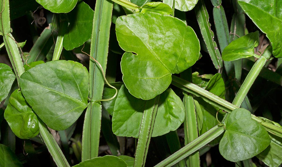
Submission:
<svg viewBox="0 0 282 167">
<path fill-rule="evenodd" d="M 158 163 L 155 167 L 161 167 L 161 166 L 172 166 L 175 163 L 181 161 L 185 157 L 191 155 L 195 151 L 202 148 L 204 145 L 208 144 L 212 140 L 214 140 L 216 137 L 221 135 L 221 133 L 224 132 L 223 126 L 215 126 L 212 129 L 208 130 L 201 136 L 199 136 L 197 139 L 193 140 L 191 143 L 187 144 L 186 146 L 182 147 L 182 149 L 178 150 L 168 158 L 164 159 L 160 163 Z"/>
</svg>

